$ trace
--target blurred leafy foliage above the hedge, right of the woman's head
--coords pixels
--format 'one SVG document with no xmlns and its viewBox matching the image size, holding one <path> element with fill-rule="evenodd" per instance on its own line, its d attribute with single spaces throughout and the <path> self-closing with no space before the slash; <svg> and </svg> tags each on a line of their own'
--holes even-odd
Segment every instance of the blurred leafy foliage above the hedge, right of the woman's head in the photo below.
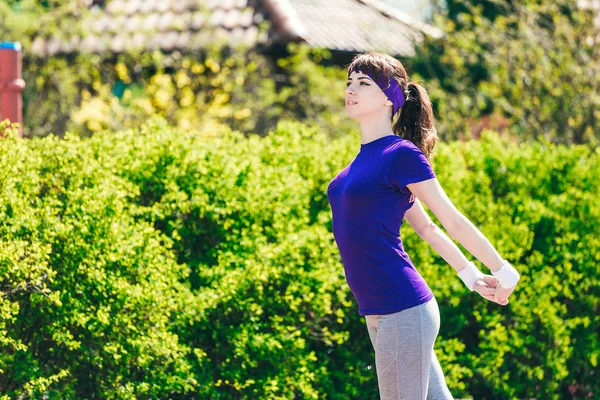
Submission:
<svg viewBox="0 0 600 400">
<path fill-rule="evenodd" d="M 447 2 L 445 32 L 411 60 L 446 139 L 507 130 L 521 140 L 598 144 L 597 11 L 576 1 Z"/>
</svg>

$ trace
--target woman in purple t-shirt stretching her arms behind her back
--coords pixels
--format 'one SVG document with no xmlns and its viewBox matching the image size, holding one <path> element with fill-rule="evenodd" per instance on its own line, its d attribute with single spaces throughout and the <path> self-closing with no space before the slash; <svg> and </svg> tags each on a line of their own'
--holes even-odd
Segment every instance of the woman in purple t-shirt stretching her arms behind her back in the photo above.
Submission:
<svg viewBox="0 0 600 400">
<path fill-rule="evenodd" d="M 327 188 L 346 281 L 365 316 L 382 400 L 452 399 L 433 351 L 436 299 L 402 245 L 403 219 L 454 268 L 469 290 L 508 304 L 520 276 L 446 196 L 429 160 L 438 140 L 427 92 L 393 57 L 357 55 L 346 108 L 360 124 L 360 151 Z M 490 268 L 482 274 L 453 239 Z"/>
</svg>

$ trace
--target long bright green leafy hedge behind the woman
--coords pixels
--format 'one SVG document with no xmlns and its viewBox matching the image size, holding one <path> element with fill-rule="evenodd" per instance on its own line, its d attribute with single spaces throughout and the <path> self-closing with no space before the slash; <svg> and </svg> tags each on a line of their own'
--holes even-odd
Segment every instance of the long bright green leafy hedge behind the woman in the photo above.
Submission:
<svg viewBox="0 0 600 400">
<path fill-rule="evenodd" d="M 0 150 L 3 398 L 377 398 L 326 197 L 357 136 L 154 119 Z M 440 143 L 434 169 L 522 273 L 500 307 L 403 229 L 440 304 L 454 396 L 600 395 L 600 151 L 486 131 Z"/>
</svg>

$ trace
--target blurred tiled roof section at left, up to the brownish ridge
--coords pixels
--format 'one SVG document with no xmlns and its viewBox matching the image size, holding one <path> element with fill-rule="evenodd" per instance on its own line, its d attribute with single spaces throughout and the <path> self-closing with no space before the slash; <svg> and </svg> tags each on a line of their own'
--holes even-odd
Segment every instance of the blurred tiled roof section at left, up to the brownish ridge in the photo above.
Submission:
<svg viewBox="0 0 600 400">
<path fill-rule="evenodd" d="M 204 47 L 224 38 L 255 44 L 264 14 L 257 0 L 112 0 L 94 6 L 83 37 L 34 40 L 32 53 L 103 52 Z"/>
</svg>

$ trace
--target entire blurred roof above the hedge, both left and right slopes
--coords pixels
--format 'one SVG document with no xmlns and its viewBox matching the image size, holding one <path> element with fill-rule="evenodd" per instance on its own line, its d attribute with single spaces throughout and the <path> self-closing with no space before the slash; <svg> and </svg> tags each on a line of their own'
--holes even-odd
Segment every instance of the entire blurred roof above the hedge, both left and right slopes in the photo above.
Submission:
<svg viewBox="0 0 600 400">
<path fill-rule="evenodd" d="M 304 41 L 331 50 L 413 54 L 413 40 L 438 31 L 380 0 L 107 0 L 94 5 L 87 35 L 34 40 L 38 56 L 130 49 L 194 49 L 218 39 L 256 45 Z M 263 20 L 271 30 L 259 34 Z"/>
</svg>

